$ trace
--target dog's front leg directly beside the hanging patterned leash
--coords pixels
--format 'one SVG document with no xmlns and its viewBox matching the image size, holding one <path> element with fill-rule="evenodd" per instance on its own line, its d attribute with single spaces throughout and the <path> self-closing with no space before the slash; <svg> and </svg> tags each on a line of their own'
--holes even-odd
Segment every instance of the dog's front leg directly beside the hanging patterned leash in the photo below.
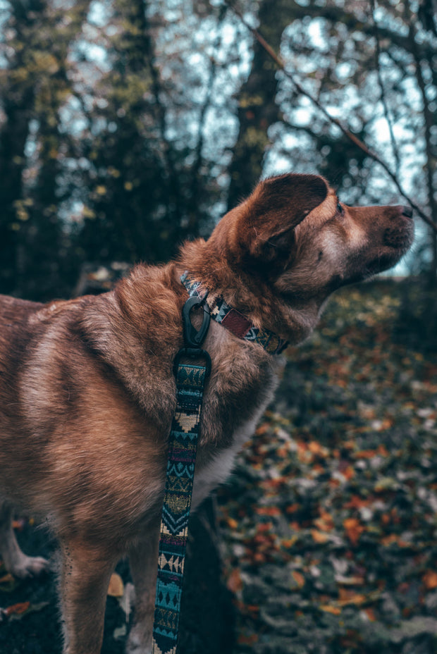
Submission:
<svg viewBox="0 0 437 654">
<path fill-rule="evenodd" d="M 127 654 L 152 652 L 158 545 L 159 524 L 156 524 L 129 550 L 130 572 L 135 586 L 135 622 L 130 629 Z"/>
</svg>

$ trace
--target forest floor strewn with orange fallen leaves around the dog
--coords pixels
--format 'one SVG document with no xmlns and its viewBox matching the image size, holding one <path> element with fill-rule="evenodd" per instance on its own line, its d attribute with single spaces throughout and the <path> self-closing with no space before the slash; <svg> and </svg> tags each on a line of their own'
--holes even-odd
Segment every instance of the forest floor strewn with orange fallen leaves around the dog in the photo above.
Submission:
<svg viewBox="0 0 437 654">
<path fill-rule="evenodd" d="M 181 654 L 437 650 L 437 337 L 419 295 L 345 289 L 288 352 L 216 517 L 210 503 L 192 525 Z M 16 526 L 27 553 L 54 549 Z M 123 651 L 125 562 L 118 573 L 103 654 Z M 0 654 L 60 653 L 54 589 L 0 569 Z"/>
</svg>

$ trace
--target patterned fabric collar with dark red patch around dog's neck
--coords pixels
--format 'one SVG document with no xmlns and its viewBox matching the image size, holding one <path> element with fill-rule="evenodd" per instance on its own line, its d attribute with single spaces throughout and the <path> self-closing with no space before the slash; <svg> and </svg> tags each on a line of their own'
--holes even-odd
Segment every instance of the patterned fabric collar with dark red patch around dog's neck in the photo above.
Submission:
<svg viewBox="0 0 437 654">
<path fill-rule="evenodd" d="M 202 282 L 192 281 L 188 278 L 188 272 L 185 271 L 180 278 L 191 297 L 201 297 L 198 289 Z M 203 297 L 206 299 L 207 294 Z M 269 354 L 281 354 L 288 346 L 288 340 L 280 338 L 277 334 L 269 329 L 259 329 L 254 327 L 252 322 L 240 314 L 240 311 L 233 309 L 223 300 L 223 297 L 217 297 L 214 304 L 210 305 L 210 315 L 217 323 L 221 323 L 228 331 L 233 333 L 242 340 L 249 340 L 251 343 L 258 343 L 264 347 Z"/>
</svg>

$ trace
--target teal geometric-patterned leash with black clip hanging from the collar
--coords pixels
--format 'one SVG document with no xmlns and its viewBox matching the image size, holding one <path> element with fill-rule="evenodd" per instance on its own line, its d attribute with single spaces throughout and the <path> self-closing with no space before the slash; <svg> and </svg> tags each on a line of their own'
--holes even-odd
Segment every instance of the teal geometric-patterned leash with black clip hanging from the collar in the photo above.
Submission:
<svg viewBox="0 0 437 654">
<path fill-rule="evenodd" d="M 185 345 L 176 354 L 173 364 L 176 375 L 176 412 L 171 424 L 161 514 L 152 654 L 176 654 L 178 647 L 180 600 L 200 412 L 204 384 L 211 373 L 211 358 L 206 350 L 201 349 L 210 320 L 206 299 L 207 294 L 203 297 L 189 297 L 185 302 L 182 311 Z M 198 307 L 204 310 L 199 330 L 192 325 L 190 319 L 191 310 Z M 186 363 L 187 359 L 192 359 L 192 362 Z"/>
</svg>

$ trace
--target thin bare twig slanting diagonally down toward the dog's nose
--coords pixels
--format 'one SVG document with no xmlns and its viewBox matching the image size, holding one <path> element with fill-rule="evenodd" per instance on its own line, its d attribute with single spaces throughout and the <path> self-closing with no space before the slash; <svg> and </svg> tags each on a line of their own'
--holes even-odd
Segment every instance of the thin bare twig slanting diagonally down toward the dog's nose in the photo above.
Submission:
<svg viewBox="0 0 437 654">
<path fill-rule="evenodd" d="M 432 219 L 429 218 L 429 216 L 426 216 L 424 211 L 422 211 L 422 209 L 416 204 L 416 202 L 414 202 L 411 199 L 411 197 L 407 195 L 407 192 L 405 192 L 405 190 L 400 185 L 400 182 L 398 181 L 398 178 L 396 177 L 395 173 L 393 173 L 390 170 L 388 165 L 384 161 L 382 161 L 382 159 L 380 159 L 377 154 L 375 154 L 371 149 L 369 149 L 367 145 L 364 142 L 362 142 L 362 140 L 360 140 L 357 136 L 355 136 L 355 134 L 352 134 L 350 130 L 345 128 L 345 126 L 342 123 L 340 123 L 338 118 L 331 116 L 331 114 L 325 109 L 325 107 L 318 100 L 316 100 L 316 98 L 314 98 L 312 94 L 304 90 L 304 87 L 302 87 L 300 83 L 295 80 L 293 75 L 289 73 L 288 70 L 285 69 L 285 63 L 283 62 L 281 57 L 278 54 L 276 54 L 276 52 L 269 45 L 269 43 L 266 42 L 266 39 L 264 39 L 264 37 L 262 37 L 259 34 L 258 30 L 256 30 L 254 27 L 249 25 L 249 23 L 247 23 L 247 20 L 245 19 L 245 17 L 242 15 L 242 13 L 237 7 L 235 7 L 233 4 L 230 4 L 230 7 L 237 14 L 237 16 L 240 18 L 240 20 L 245 25 L 245 27 L 247 27 L 247 30 L 249 30 L 252 33 L 252 35 L 255 37 L 255 39 L 257 39 L 257 41 L 259 42 L 261 47 L 264 48 L 266 53 L 269 54 L 269 56 L 273 59 L 273 61 L 277 64 L 277 66 L 281 68 L 284 75 L 293 83 L 293 86 L 295 87 L 297 92 L 307 97 L 312 102 L 312 104 L 314 104 L 314 106 L 316 106 L 317 109 L 319 109 L 319 111 L 321 111 L 321 113 L 324 114 L 324 116 L 328 119 L 330 123 L 333 123 L 333 125 L 337 125 L 337 127 L 341 130 L 341 132 L 343 132 L 343 134 L 350 141 L 352 141 L 352 143 L 354 143 L 357 147 L 359 147 L 359 149 L 361 149 L 365 154 L 367 154 L 367 156 L 369 156 L 371 159 L 376 161 L 376 163 L 379 163 L 379 165 L 382 166 L 382 168 L 386 171 L 390 179 L 393 180 L 393 182 L 395 183 L 395 186 L 398 188 L 400 195 L 402 195 L 402 197 L 405 197 L 407 202 L 410 204 L 410 206 L 412 206 L 414 211 L 417 211 L 417 214 L 419 214 L 422 220 L 425 221 L 425 223 L 427 223 L 429 226 L 433 228 L 433 230 L 436 230 L 437 232 L 436 223 L 434 223 Z"/>
</svg>

